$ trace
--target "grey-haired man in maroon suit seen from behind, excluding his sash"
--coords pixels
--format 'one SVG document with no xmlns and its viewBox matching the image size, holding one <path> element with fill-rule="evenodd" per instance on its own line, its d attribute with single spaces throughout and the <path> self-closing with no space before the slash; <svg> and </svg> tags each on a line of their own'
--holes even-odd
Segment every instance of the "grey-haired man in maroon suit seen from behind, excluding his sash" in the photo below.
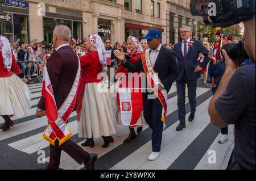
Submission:
<svg viewBox="0 0 256 181">
<path fill-rule="evenodd" d="M 47 71 L 51 81 L 57 110 L 63 105 L 69 92 L 72 89 L 79 69 L 79 58 L 71 49 L 69 41 L 71 39 L 71 30 L 64 25 L 56 26 L 53 31 L 53 45 L 56 52 L 51 54 L 47 61 Z M 46 98 L 42 96 L 38 103 L 36 116 L 42 117 L 46 115 Z M 85 164 L 86 169 L 94 169 L 94 163 L 97 161 L 97 154 L 89 154 L 79 145 L 71 140 L 65 141 L 60 145 L 58 139 L 55 145 L 50 145 L 50 160 L 47 170 L 57 170 L 60 165 L 61 151 L 68 153 L 80 165 Z"/>
</svg>

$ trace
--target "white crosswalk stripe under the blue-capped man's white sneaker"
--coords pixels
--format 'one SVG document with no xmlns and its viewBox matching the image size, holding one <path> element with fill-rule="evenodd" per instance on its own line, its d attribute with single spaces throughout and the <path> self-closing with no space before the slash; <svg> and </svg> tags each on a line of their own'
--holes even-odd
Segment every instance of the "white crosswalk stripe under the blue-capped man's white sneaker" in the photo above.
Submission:
<svg viewBox="0 0 256 181">
<path fill-rule="evenodd" d="M 117 165 L 113 166 L 111 170 L 166 170 L 209 124 L 209 120 L 205 119 L 208 116 L 207 105 L 209 105 L 209 102 L 210 99 L 197 107 L 195 120 L 193 123 L 187 121 L 187 128 L 183 131 L 175 131 L 179 125 L 179 121 L 177 121 L 163 132 L 162 151 L 156 161 L 147 161 L 147 157 L 152 150 L 151 141 L 149 141 L 121 162 L 117 163 Z M 187 119 L 188 116 L 189 113 L 186 116 Z M 180 144 L 181 142 L 182 144 Z"/>
</svg>

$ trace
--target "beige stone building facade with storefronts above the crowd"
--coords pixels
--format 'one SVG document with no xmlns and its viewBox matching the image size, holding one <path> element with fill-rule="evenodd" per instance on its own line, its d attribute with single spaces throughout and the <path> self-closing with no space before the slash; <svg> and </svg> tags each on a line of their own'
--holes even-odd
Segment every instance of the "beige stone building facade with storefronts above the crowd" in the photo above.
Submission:
<svg viewBox="0 0 256 181">
<path fill-rule="evenodd" d="M 71 28 L 82 40 L 98 33 L 103 40 L 122 43 L 129 35 L 141 39 L 152 28 L 163 35 L 163 43 L 179 39 L 180 24 L 193 25 L 188 1 L 169 0 L 4 0 L 1 34 L 15 42 L 52 41 L 58 24 Z M 182 16 L 182 18 L 180 18 Z M 181 20 L 180 20 L 181 19 Z M 173 34 L 174 33 L 174 34 Z"/>
</svg>

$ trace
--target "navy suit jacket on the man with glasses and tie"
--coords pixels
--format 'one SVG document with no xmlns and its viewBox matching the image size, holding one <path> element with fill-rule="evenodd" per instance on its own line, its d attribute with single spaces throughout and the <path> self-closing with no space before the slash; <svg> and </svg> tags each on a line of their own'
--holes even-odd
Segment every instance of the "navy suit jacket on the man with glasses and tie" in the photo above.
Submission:
<svg viewBox="0 0 256 181">
<path fill-rule="evenodd" d="M 176 81 L 181 81 L 184 71 L 189 81 L 195 81 L 196 79 L 201 77 L 200 73 L 194 72 L 194 69 L 198 65 L 197 58 L 199 57 L 199 53 L 204 54 L 204 62 L 200 64 L 201 68 L 207 68 L 207 64 L 210 61 L 210 58 L 208 57 L 209 50 L 204 47 L 201 41 L 195 39 L 191 39 L 191 41 L 194 41 L 195 44 L 193 45 L 193 48 L 188 49 L 186 60 L 183 57 L 183 53 L 181 50 L 181 46 L 183 44 L 182 41 L 174 45 L 174 52 L 176 53 L 177 64 L 179 65 L 180 72 Z"/>
</svg>

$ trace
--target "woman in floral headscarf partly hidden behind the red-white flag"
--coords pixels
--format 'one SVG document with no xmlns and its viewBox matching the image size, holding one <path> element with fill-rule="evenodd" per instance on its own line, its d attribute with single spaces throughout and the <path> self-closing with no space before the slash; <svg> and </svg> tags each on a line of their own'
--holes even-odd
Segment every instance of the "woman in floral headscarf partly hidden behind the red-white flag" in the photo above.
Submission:
<svg viewBox="0 0 256 181">
<path fill-rule="evenodd" d="M 134 37 L 134 36 L 129 36 L 127 39 L 127 49 L 129 50 L 129 54 L 126 55 L 125 57 L 127 60 L 129 60 L 131 63 L 135 64 L 140 58 L 141 58 L 141 54 L 143 52 L 141 43 L 139 42 L 139 40 Z M 133 79 L 129 79 L 129 73 L 131 73 L 132 71 L 129 71 L 129 69 L 126 69 L 124 66 L 120 65 L 117 72 L 115 73 L 115 77 L 119 77 L 118 73 L 123 73 L 123 75 L 125 75 L 125 77 L 121 77 L 126 79 L 126 85 L 124 85 L 123 83 L 121 83 L 119 85 L 119 88 L 124 88 L 124 87 L 131 87 L 131 88 L 140 88 L 141 87 L 141 79 L 139 79 L 139 85 L 138 87 L 136 86 L 136 83 Z M 138 74 L 141 73 L 141 71 L 137 72 Z M 122 82 L 122 81 L 120 81 Z M 119 93 L 117 93 L 117 116 L 118 116 L 118 124 L 122 124 L 121 121 L 121 107 L 120 107 L 120 97 L 121 96 Z M 143 108 L 143 101 L 142 101 L 142 108 Z M 123 141 L 124 143 L 128 143 L 131 140 L 135 140 L 136 138 L 136 133 L 134 131 L 134 127 L 138 127 L 137 128 L 137 133 L 141 133 L 142 132 L 142 128 L 143 126 L 146 125 L 146 121 L 144 120 L 143 117 L 143 109 L 141 111 L 141 116 L 139 117 L 139 119 L 133 124 L 129 126 L 130 129 L 130 133 L 129 136 L 126 138 L 125 141 Z"/>
</svg>

